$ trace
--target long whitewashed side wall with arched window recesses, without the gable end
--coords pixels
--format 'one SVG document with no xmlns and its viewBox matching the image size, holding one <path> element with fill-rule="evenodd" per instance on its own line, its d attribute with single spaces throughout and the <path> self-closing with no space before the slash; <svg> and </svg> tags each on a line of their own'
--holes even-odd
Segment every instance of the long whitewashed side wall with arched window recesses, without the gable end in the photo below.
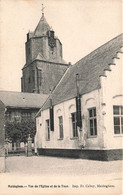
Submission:
<svg viewBox="0 0 123 195">
<path fill-rule="evenodd" d="M 85 133 L 85 148 L 102 148 L 103 135 L 100 126 L 100 96 L 101 91 L 95 90 L 84 95 L 82 101 L 82 120 L 83 131 Z M 96 107 L 97 110 L 97 131 L 95 137 L 89 137 L 88 108 Z M 68 100 L 54 107 L 54 131 L 50 131 L 50 140 L 46 140 L 46 120 L 49 119 L 49 109 L 42 111 L 41 117 L 37 118 L 37 146 L 42 148 L 65 148 L 79 149 L 79 138 L 72 136 L 71 113 L 76 112 L 75 99 Z M 58 117 L 63 116 L 64 138 L 59 139 L 59 121 Z"/>
</svg>

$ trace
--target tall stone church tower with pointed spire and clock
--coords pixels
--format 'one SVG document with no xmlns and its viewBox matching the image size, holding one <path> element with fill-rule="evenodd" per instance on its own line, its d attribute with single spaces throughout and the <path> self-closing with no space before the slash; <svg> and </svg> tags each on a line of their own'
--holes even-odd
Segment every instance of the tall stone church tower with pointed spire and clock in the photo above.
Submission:
<svg viewBox="0 0 123 195">
<path fill-rule="evenodd" d="M 49 94 L 68 64 L 62 58 L 62 44 L 47 23 L 44 13 L 34 32 L 28 32 L 26 64 L 22 69 L 21 91 Z"/>
</svg>

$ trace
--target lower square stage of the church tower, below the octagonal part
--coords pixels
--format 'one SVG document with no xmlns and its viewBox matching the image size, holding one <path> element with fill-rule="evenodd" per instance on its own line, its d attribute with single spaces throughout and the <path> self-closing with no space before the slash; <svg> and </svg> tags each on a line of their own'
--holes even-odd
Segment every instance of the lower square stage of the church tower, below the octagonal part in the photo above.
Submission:
<svg viewBox="0 0 123 195">
<path fill-rule="evenodd" d="M 41 86 L 38 86 L 37 84 L 37 67 L 42 72 Z M 43 61 L 33 62 L 23 69 L 23 92 L 38 93 L 39 91 L 43 94 L 50 93 L 50 88 L 53 89 L 54 86 L 56 86 L 67 68 L 68 66 L 63 64 Z"/>
</svg>

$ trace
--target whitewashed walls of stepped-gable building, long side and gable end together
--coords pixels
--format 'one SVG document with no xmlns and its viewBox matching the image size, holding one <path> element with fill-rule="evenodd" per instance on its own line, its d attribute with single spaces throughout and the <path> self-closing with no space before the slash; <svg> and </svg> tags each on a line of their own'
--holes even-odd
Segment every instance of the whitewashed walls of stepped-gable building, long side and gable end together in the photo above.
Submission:
<svg viewBox="0 0 123 195">
<path fill-rule="evenodd" d="M 122 59 L 114 59 L 116 65 L 105 71 L 106 77 L 100 77 L 101 89 L 85 94 L 81 98 L 82 123 L 85 137 L 85 149 L 119 149 L 122 148 L 122 135 L 114 134 L 113 105 L 123 105 L 121 91 Z M 123 86 L 123 85 L 122 85 Z M 89 136 L 88 109 L 96 107 L 97 136 Z M 79 139 L 72 137 L 71 113 L 76 112 L 75 99 L 60 103 L 54 107 L 54 131 L 50 131 L 50 140 L 46 140 L 46 120 L 49 109 L 42 111 L 37 118 L 36 143 L 38 148 L 79 149 Z M 63 116 L 63 140 L 59 139 L 58 116 Z"/>
</svg>

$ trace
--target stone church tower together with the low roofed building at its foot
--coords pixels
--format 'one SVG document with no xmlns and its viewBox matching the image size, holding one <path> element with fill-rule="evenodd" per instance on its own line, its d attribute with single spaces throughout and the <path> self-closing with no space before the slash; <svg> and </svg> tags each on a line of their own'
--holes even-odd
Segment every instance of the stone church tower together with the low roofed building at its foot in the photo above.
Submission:
<svg viewBox="0 0 123 195">
<path fill-rule="evenodd" d="M 69 67 L 63 60 L 62 43 L 44 13 L 34 32 L 28 32 L 25 50 L 21 92 L 0 91 L 6 122 L 35 121 L 36 113 Z"/>
</svg>

